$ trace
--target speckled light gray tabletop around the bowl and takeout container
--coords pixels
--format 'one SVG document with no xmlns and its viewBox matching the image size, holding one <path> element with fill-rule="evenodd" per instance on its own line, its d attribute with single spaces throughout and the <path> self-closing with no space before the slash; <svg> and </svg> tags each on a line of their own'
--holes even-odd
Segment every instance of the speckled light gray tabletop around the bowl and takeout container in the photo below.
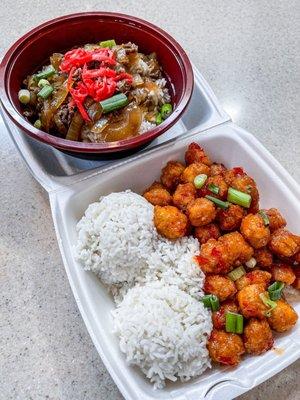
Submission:
<svg viewBox="0 0 300 400">
<path fill-rule="evenodd" d="M 233 120 L 299 180 L 299 7 L 297 0 L 4 0 L 0 44 L 3 51 L 35 25 L 82 10 L 148 19 L 184 46 Z M 121 399 L 75 304 L 47 194 L 4 131 L 0 175 L 0 399 Z M 298 361 L 240 399 L 300 398 L 299 372 Z"/>
</svg>

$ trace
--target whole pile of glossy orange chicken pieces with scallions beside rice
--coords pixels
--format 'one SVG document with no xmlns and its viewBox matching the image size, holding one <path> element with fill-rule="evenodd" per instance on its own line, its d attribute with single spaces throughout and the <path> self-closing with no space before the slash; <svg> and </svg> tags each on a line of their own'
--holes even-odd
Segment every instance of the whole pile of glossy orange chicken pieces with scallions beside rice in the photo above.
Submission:
<svg viewBox="0 0 300 400">
<path fill-rule="evenodd" d="M 279 210 L 260 208 L 256 183 L 242 167 L 213 163 L 192 143 L 185 164 L 169 161 L 144 197 L 162 236 L 192 234 L 200 243 L 213 361 L 237 365 L 245 353 L 270 350 L 273 331 L 292 329 L 298 316 L 283 288 L 300 289 L 300 237 Z"/>
</svg>

